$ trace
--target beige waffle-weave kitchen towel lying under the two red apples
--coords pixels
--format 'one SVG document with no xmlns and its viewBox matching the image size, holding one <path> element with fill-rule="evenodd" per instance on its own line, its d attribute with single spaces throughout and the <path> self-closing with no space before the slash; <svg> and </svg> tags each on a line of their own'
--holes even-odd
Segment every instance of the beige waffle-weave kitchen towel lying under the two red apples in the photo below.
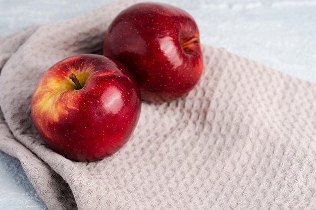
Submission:
<svg viewBox="0 0 316 210">
<path fill-rule="evenodd" d="M 316 84 L 203 45 L 187 96 L 143 102 L 130 141 L 97 162 L 51 151 L 30 116 L 46 69 L 101 49 L 135 1 L 34 26 L 0 43 L 0 149 L 20 160 L 49 209 L 316 209 Z"/>
</svg>

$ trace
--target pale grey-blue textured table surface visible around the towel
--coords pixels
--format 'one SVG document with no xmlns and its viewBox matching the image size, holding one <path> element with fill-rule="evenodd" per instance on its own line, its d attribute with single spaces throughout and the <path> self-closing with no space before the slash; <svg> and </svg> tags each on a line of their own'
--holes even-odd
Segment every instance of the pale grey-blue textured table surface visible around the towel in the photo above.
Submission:
<svg viewBox="0 0 316 210">
<path fill-rule="evenodd" d="M 0 36 L 68 19 L 113 0 L 0 0 Z M 316 82 L 316 1 L 159 0 L 183 8 L 196 20 L 203 44 Z M 47 209 L 21 164 L 0 152 L 0 209 Z"/>
</svg>

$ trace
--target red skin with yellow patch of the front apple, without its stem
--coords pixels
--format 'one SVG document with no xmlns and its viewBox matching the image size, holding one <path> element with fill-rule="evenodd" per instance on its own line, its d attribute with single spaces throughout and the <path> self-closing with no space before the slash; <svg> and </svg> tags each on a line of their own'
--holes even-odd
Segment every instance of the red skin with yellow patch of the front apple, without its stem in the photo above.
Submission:
<svg viewBox="0 0 316 210">
<path fill-rule="evenodd" d="M 76 75 L 81 89 L 69 79 Z M 96 54 L 68 57 L 40 78 L 31 116 L 43 141 L 74 161 L 96 161 L 120 150 L 137 125 L 139 87 L 114 58 Z"/>
</svg>

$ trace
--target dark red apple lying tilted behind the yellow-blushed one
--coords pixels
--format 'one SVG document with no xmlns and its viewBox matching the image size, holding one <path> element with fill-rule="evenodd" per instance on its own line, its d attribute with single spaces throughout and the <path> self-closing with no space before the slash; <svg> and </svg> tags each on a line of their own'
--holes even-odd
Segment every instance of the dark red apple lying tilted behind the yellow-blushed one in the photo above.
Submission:
<svg viewBox="0 0 316 210">
<path fill-rule="evenodd" d="M 113 20 L 104 37 L 103 55 L 126 65 L 141 97 L 149 102 L 177 99 L 198 83 L 203 69 L 199 31 L 180 8 L 139 3 Z"/>
</svg>

